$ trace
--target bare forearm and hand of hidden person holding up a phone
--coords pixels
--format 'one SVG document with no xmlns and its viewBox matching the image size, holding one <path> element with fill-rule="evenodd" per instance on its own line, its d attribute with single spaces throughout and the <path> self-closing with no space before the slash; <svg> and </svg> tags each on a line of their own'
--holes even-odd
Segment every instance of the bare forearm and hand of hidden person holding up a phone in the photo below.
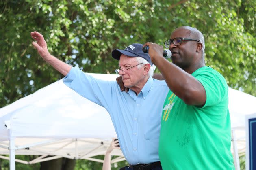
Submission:
<svg viewBox="0 0 256 170">
<path fill-rule="evenodd" d="M 106 151 L 106 155 L 105 155 L 104 161 L 103 161 L 102 170 L 111 170 L 111 154 L 110 153 L 115 148 L 120 149 L 120 147 L 118 147 L 118 145 L 119 145 L 118 140 L 116 140 L 116 141 L 114 141 L 114 140 L 115 139 L 112 139 L 112 142 Z"/>
</svg>

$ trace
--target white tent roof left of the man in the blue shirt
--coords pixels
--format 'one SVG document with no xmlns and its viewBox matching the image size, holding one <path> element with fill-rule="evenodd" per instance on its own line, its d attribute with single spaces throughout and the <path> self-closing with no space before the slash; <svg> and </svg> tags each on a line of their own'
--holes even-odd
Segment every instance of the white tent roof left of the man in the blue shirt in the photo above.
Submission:
<svg viewBox="0 0 256 170">
<path fill-rule="evenodd" d="M 91 74 L 115 80 L 117 75 Z M 36 138 L 115 137 L 105 108 L 64 85 L 62 79 L 0 109 L 0 140 L 9 136 Z M 7 128 L 11 128 L 11 134 Z"/>
</svg>

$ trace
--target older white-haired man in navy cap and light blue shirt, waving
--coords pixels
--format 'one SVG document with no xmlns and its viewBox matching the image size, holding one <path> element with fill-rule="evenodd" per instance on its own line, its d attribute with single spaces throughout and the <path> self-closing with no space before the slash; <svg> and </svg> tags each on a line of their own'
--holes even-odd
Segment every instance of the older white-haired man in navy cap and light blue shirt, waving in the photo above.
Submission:
<svg viewBox="0 0 256 170">
<path fill-rule="evenodd" d="M 38 32 L 31 32 L 33 46 L 39 55 L 65 77 L 65 85 L 108 111 L 124 157 L 130 170 L 161 170 L 158 156 L 161 110 L 169 88 L 165 81 L 152 78 L 154 68 L 142 44 L 134 43 L 124 50 L 115 49 L 112 57 L 119 60 L 125 87 L 116 81 L 103 81 L 84 74 L 50 55 L 46 41 Z M 95 122 L 97 123 L 97 122 Z"/>
</svg>

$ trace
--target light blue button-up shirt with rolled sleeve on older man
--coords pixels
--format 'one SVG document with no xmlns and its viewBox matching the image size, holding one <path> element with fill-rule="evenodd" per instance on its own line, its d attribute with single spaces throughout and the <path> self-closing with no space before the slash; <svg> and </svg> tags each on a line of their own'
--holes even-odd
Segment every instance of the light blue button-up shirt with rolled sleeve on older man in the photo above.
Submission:
<svg viewBox="0 0 256 170">
<path fill-rule="evenodd" d="M 135 91 L 121 91 L 116 81 L 95 79 L 73 67 L 63 82 L 81 96 L 106 108 L 129 164 L 159 161 L 161 114 L 169 91 L 165 81 L 150 77 L 136 96 Z"/>
</svg>

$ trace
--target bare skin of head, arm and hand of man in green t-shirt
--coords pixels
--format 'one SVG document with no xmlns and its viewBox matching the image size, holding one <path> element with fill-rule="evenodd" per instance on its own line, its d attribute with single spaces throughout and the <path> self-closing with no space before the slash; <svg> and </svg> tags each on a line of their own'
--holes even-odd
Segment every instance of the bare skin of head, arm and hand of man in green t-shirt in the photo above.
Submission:
<svg viewBox="0 0 256 170">
<path fill-rule="evenodd" d="M 197 32 L 189 27 L 180 27 L 174 30 L 171 38 L 197 38 Z M 203 85 L 191 74 L 205 66 L 202 57 L 203 45 L 196 41 L 184 41 L 181 45 L 173 43 L 169 49 L 173 53 L 169 62 L 163 57 L 163 47 L 156 43 L 147 42 L 144 46 L 149 47 L 149 55 L 153 64 L 162 73 L 171 91 L 182 99 L 186 104 L 203 106 L 206 102 L 206 92 Z"/>
</svg>

